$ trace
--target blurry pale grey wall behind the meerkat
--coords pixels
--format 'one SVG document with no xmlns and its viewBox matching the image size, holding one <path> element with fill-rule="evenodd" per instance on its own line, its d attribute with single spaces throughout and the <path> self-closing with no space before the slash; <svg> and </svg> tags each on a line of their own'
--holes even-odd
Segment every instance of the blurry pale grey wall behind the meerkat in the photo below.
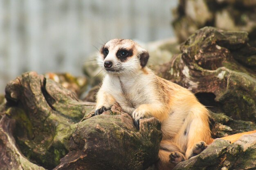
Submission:
<svg viewBox="0 0 256 170">
<path fill-rule="evenodd" d="M 86 57 L 112 38 L 173 37 L 176 6 L 177 0 L 0 0 L 0 94 L 25 71 L 81 75 Z"/>
</svg>

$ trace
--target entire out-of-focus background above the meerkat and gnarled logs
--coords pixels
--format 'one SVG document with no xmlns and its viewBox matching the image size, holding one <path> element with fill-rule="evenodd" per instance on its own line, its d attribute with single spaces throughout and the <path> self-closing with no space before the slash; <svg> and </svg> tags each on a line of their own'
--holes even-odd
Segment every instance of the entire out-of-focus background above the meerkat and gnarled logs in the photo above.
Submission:
<svg viewBox="0 0 256 170">
<path fill-rule="evenodd" d="M 246 31 L 256 47 L 256 0 L 0 0 L 0 94 L 26 71 L 88 76 L 112 38 L 136 40 L 149 64 L 164 63 L 204 26 Z"/>
</svg>

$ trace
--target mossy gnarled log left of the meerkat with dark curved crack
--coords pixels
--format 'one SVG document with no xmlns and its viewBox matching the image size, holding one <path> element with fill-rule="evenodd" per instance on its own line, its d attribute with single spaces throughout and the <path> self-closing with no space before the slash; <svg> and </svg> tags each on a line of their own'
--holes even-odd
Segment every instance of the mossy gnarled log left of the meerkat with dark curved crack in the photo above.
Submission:
<svg viewBox="0 0 256 170">
<path fill-rule="evenodd" d="M 9 82 L 5 97 L 5 115 L 16 120 L 13 136 L 20 153 L 47 169 L 67 154 L 75 124 L 94 107 L 34 72 Z"/>
</svg>

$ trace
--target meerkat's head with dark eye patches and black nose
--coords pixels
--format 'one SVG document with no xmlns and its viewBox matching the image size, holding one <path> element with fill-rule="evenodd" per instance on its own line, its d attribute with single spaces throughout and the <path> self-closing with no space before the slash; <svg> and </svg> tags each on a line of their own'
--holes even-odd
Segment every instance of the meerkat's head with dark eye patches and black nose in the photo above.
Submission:
<svg viewBox="0 0 256 170">
<path fill-rule="evenodd" d="M 132 40 L 113 39 L 100 51 L 99 65 L 110 74 L 136 73 L 146 66 L 148 52 Z"/>
</svg>

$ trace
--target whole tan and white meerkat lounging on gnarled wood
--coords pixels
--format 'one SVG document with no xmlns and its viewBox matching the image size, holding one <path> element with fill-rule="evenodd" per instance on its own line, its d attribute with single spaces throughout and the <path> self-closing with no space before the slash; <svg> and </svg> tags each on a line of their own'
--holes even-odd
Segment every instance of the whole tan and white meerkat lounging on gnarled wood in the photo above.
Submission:
<svg viewBox="0 0 256 170">
<path fill-rule="evenodd" d="M 163 138 L 157 167 L 171 170 L 213 141 L 209 111 L 188 89 L 155 75 L 146 66 L 148 58 L 132 40 L 113 39 L 103 45 L 97 60 L 107 74 L 97 93 L 95 115 L 117 102 L 137 127 L 141 118 L 159 119 Z"/>
</svg>

